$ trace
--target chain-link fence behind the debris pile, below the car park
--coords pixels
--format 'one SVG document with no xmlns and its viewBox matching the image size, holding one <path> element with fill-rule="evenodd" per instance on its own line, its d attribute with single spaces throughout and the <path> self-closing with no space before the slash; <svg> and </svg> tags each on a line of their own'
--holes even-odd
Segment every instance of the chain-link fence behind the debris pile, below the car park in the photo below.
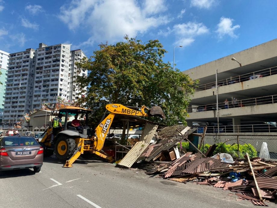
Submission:
<svg viewBox="0 0 277 208">
<path fill-rule="evenodd" d="M 200 140 L 199 140 L 200 142 Z M 267 143 L 267 148 L 269 151 L 270 159 L 277 159 L 277 135 L 220 135 L 220 134 L 206 134 L 204 137 L 204 144 L 219 144 L 226 143 L 234 146 L 233 149 L 237 150 L 237 147 L 240 145 L 251 144 L 257 151 L 257 156 L 259 156 L 263 142 Z M 235 151 L 235 156 L 241 156 L 238 151 Z M 243 153 L 246 154 L 246 153 Z M 253 153 L 248 152 L 249 155 Z"/>
</svg>

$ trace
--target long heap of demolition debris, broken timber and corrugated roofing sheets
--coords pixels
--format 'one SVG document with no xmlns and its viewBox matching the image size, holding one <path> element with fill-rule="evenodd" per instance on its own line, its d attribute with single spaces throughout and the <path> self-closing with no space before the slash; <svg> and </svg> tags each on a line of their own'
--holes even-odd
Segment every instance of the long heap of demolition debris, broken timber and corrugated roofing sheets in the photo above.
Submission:
<svg viewBox="0 0 277 208">
<path fill-rule="evenodd" d="M 131 167 L 135 162 L 146 174 L 156 177 L 187 183 L 195 182 L 209 185 L 235 193 L 237 200 L 249 200 L 254 205 L 267 206 L 265 200 L 277 199 L 277 162 L 261 158 L 235 159 L 227 163 L 220 155 L 213 157 L 215 146 L 211 146 L 206 154 L 176 152 L 176 143 L 188 140 L 188 135 L 195 129 L 184 126 L 170 126 L 158 133 L 157 141 L 151 145 L 136 144 L 123 158 Z M 193 144 L 191 144 L 193 145 Z M 195 147 L 197 148 L 197 147 Z M 182 155 L 181 155 L 182 154 Z M 132 161 L 132 162 L 130 162 Z M 224 162 L 223 162 L 224 161 Z"/>
</svg>

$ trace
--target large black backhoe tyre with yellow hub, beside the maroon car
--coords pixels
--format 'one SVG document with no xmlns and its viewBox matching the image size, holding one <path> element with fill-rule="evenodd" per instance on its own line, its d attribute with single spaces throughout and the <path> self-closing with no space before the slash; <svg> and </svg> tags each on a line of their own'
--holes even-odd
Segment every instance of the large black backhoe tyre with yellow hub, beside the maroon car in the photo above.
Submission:
<svg viewBox="0 0 277 208">
<path fill-rule="evenodd" d="M 75 140 L 64 135 L 59 137 L 56 142 L 55 154 L 59 160 L 64 162 L 72 156 L 75 148 Z"/>
</svg>

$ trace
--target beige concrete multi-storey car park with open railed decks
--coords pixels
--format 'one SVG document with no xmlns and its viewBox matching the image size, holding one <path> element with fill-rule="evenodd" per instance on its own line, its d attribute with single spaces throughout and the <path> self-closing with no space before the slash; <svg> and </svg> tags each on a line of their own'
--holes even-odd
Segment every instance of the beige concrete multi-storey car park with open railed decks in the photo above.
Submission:
<svg viewBox="0 0 277 208">
<path fill-rule="evenodd" d="M 184 71 L 200 81 L 188 108 L 188 125 L 214 126 L 213 133 L 218 125 L 219 132 L 276 132 L 276 48 L 274 39 Z"/>
</svg>

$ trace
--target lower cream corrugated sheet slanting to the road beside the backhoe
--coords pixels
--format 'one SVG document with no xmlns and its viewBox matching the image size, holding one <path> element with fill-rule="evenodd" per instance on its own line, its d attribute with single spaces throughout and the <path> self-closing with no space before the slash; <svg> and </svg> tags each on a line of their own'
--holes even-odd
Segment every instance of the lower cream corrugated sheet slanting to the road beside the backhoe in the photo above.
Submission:
<svg viewBox="0 0 277 208">
<path fill-rule="evenodd" d="M 134 147 L 123 157 L 123 159 L 117 164 L 130 168 L 141 153 L 147 148 L 148 144 L 144 142 L 135 143 Z"/>
</svg>

